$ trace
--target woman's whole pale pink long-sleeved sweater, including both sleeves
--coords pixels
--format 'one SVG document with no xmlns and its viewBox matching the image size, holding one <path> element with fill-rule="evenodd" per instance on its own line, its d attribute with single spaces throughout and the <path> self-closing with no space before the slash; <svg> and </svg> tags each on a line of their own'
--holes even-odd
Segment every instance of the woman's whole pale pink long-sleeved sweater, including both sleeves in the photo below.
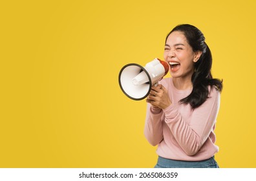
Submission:
<svg viewBox="0 0 256 181">
<path fill-rule="evenodd" d="M 154 109 L 147 103 L 144 134 L 156 153 L 173 160 L 206 160 L 219 151 L 215 145 L 215 123 L 220 107 L 220 92 L 211 89 L 209 98 L 193 110 L 189 104 L 178 103 L 192 89 L 178 90 L 172 78 L 159 82 L 169 91 L 172 104 Z"/>
</svg>

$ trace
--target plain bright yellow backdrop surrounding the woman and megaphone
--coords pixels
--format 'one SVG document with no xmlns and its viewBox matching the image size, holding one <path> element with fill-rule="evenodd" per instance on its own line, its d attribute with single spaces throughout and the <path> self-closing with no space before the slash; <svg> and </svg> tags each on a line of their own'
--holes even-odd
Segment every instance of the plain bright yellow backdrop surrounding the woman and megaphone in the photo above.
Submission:
<svg viewBox="0 0 256 181">
<path fill-rule="evenodd" d="M 256 167 L 253 2 L 1 1 L 0 167 L 153 167 L 145 100 L 118 73 L 163 58 L 180 23 L 202 30 L 224 80 L 217 162 Z"/>
</svg>

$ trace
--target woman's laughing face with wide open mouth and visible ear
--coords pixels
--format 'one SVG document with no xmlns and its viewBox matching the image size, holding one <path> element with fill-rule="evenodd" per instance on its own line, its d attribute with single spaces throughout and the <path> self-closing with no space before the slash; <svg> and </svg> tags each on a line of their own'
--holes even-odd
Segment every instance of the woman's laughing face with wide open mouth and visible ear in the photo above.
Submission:
<svg viewBox="0 0 256 181">
<path fill-rule="evenodd" d="M 182 32 L 172 32 L 164 48 L 164 59 L 169 63 L 173 78 L 191 78 L 194 63 L 200 58 L 200 52 L 193 52 L 192 47 Z"/>
</svg>

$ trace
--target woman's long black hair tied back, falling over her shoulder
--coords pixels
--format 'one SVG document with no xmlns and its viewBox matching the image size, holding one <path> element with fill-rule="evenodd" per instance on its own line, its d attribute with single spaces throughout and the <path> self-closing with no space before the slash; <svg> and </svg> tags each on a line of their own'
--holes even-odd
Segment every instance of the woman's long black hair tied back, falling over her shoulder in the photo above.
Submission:
<svg viewBox="0 0 256 181">
<path fill-rule="evenodd" d="M 211 65 L 213 58 L 211 56 L 211 50 L 208 45 L 205 43 L 204 34 L 197 27 L 193 25 L 183 24 L 178 25 L 169 34 L 172 32 L 182 32 L 187 39 L 187 43 L 192 47 L 193 52 L 201 51 L 202 55 L 195 63 L 195 72 L 191 77 L 193 83 L 193 90 L 189 96 L 180 100 L 181 103 L 189 103 L 193 109 L 199 107 L 209 98 L 209 89 L 215 87 L 219 92 L 222 91 L 222 80 L 213 78 L 211 75 Z M 165 39 L 165 43 L 167 41 Z"/>
</svg>

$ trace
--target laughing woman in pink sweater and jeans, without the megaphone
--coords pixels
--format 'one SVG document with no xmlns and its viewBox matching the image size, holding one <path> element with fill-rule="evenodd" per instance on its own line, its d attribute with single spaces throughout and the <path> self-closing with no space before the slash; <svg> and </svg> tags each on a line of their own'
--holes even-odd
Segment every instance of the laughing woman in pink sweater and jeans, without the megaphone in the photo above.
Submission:
<svg viewBox="0 0 256 181">
<path fill-rule="evenodd" d="M 144 130 L 148 142 L 158 145 L 155 167 L 219 167 L 213 131 L 222 81 L 211 76 L 211 51 L 204 40 L 192 25 L 176 26 L 165 39 L 171 78 L 152 87 Z"/>
</svg>

